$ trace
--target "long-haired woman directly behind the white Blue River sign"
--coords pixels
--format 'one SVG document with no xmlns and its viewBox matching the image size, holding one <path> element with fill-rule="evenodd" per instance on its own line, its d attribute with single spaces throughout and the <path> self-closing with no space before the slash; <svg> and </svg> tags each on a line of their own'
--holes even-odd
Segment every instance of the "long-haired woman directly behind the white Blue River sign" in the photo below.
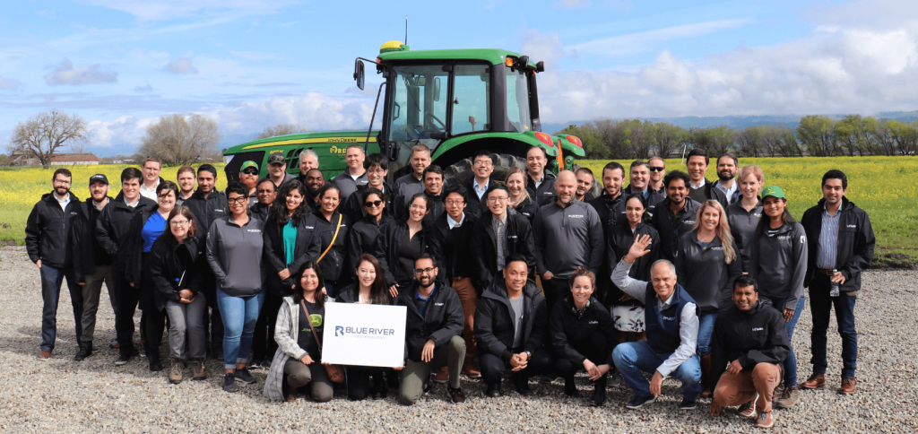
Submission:
<svg viewBox="0 0 918 434">
<path fill-rule="evenodd" d="M 335 301 L 358 305 L 391 305 L 392 299 L 386 289 L 386 273 L 383 272 L 383 266 L 379 261 L 372 255 L 364 254 L 356 262 L 357 283 L 341 288 Z M 386 380 L 383 379 L 383 371 L 384 368 L 375 366 L 348 366 L 348 398 L 352 401 L 361 401 L 372 393 L 373 399 L 386 399 Z"/>
</svg>

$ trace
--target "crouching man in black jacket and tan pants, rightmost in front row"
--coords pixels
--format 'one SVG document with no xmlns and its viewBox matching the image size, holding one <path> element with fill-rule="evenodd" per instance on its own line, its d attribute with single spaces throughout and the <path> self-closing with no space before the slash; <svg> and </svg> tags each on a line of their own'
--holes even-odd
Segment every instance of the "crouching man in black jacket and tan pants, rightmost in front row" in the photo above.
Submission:
<svg viewBox="0 0 918 434">
<path fill-rule="evenodd" d="M 770 428 L 771 398 L 790 344 L 783 315 L 758 302 L 752 276 L 733 283 L 733 306 L 717 318 L 711 348 L 711 417 L 721 416 L 724 406 L 742 404 L 741 415 L 758 414 L 756 426 Z"/>
</svg>

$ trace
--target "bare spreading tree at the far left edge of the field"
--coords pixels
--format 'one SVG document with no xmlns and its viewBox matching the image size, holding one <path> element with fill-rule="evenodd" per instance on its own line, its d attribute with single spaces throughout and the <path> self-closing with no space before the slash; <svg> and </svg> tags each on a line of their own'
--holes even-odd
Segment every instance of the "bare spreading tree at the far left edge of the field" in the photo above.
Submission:
<svg viewBox="0 0 918 434">
<path fill-rule="evenodd" d="M 48 169 L 58 149 L 80 146 L 87 139 L 87 133 L 83 117 L 54 109 L 17 123 L 9 150 L 34 158 Z"/>
</svg>

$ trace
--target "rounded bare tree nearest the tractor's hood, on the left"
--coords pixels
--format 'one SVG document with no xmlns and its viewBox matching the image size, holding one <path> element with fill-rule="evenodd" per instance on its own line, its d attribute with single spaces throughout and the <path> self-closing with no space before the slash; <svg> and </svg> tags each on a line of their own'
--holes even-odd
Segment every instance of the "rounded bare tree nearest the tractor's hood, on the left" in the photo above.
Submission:
<svg viewBox="0 0 918 434">
<path fill-rule="evenodd" d="M 164 164 L 182 165 L 213 156 L 220 133 L 217 122 L 207 117 L 172 114 L 147 127 L 141 141 L 141 155 L 157 157 Z"/>
</svg>

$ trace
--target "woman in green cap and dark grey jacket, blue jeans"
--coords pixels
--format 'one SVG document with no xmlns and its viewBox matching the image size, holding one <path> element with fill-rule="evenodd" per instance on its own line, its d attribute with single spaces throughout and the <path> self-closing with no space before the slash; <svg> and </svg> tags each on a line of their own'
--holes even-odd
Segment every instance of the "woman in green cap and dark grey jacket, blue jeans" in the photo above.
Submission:
<svg viewBox="0 0 918 434">
<path fill-rule="evenodd" d="M 790 352 L 784 360 L 784 390 L 777 405 L 797 404 L 797 355 L 794 354 L 794 328 L 806 306 L 803 279 L 807 270 L 807 239 L 803 225 L 790 215 L 788 200 L 778 185 L 762 190 L 762 217 L 753 239 L 749 274 L 758 282 L 759 300 L 778 309 L 788 329 Z M 776 394 L 778 395 L 778 394 Z"/>
</svg>

